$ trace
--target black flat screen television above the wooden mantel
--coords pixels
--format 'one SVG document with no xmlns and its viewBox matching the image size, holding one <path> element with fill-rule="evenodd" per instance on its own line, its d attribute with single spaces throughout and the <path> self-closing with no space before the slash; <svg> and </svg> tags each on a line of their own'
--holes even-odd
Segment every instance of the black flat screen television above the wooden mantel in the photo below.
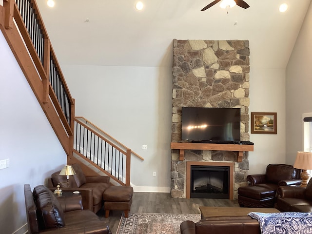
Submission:
<svg viewBox="0 0 312 234">
<path fill-rule="evenodd" d="M 182 140 L 240 142 L 240 108 L 182 107 Z"/>
</svg>

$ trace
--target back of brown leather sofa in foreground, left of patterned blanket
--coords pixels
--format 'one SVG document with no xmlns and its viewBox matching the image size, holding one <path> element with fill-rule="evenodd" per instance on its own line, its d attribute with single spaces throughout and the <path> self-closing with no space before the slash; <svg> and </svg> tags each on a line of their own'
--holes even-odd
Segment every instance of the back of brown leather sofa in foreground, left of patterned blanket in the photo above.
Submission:
<svg viewBox="0 0 312 234">
<path fill-rule="evenodd" d="M 203 218 L 199 222 L 187 220 L 180 225 L 181 234 L 260 234 L 256 219 L 246 216 L 218 216 Z"/>
</svg>

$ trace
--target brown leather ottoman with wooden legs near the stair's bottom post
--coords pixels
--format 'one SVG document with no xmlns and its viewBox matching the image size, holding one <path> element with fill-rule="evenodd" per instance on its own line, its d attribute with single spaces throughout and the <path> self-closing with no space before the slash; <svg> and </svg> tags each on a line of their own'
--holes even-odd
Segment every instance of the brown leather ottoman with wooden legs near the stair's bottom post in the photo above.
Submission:
<svg viewBox="0 0 312 234">
<path fill-rule="evenodd" d="M 105 217 L 107 218 L 110 210 L 124 211 L 125 217 L 132 204 L 133 188 L 131 186 L 111 186 L 103 193 Z"/>
</svg>

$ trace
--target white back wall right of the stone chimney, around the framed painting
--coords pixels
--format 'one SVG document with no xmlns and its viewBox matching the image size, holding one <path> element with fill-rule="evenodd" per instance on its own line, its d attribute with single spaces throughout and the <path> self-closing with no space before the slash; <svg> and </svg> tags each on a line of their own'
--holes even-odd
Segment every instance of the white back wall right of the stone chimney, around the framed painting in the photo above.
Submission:
<svg viewBox="0 0 312 234">
<path fill-rule="evenodd" d="M 251 56 L 249 112 L 276 112 L 277 134 L 250 133 L 254 152 L 249 153 L 249 174 L 265 172 L 270 163 L 285 163 L 285 105 L 285 70 L 259 68 Z"/>
</svg>

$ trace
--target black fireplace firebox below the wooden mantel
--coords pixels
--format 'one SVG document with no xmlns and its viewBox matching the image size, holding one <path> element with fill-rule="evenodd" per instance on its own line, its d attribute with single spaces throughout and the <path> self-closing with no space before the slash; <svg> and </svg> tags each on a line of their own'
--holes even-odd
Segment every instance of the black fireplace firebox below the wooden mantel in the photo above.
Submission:
<svg viewBox="0 0 312 234">
<path fill-rule="evenodd" d="M 190 182 L 192 198 L 230 198 L 229 166 L 192 165 Z"/>
</svg>

